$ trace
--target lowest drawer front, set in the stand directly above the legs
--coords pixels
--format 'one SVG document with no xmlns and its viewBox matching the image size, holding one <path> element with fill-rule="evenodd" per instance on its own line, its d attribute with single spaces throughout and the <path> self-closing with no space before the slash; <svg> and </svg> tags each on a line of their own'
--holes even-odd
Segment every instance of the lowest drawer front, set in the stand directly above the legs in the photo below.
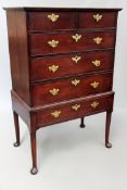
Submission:
<svg viewBox="0 0 127 190">
<path fill-rule="evenodd" d="M 106 103 L 105 103 L 106 102 Z M 55 105 L 37 113 L 37 125 L 45 126 L 113 109 L 113 94 Z"/>
</svg>

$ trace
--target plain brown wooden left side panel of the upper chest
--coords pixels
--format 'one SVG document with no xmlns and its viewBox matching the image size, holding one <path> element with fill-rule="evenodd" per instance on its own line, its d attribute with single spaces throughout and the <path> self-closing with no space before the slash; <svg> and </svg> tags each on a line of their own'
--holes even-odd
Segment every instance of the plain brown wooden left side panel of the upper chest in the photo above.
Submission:
<svg viewBox="0 0 127 190">
<path fill-rule="evenodd" d="M 22 10 L 8 10 L 7 21 L 12 88 L 30 105 L 26 13 Z"/>
</svg>

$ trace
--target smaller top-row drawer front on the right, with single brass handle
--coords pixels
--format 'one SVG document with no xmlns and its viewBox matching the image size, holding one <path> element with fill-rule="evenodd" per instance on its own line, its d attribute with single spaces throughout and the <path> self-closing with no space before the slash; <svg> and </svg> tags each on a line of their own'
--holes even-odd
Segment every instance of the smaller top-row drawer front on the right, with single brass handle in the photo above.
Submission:
<svg viewBox="0 0 127 190">
<path fill-rule="evenodd" d="M 117 12 L 81 12 L 78 13 L 79 28 L 116 27 Z"/>
</svg>

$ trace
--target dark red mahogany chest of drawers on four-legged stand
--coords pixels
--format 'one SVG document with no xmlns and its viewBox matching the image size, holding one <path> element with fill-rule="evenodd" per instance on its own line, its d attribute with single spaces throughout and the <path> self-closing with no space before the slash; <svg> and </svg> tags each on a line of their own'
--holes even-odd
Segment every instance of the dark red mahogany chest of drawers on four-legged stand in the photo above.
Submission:
<svg viewBox="0 0 127 190">
<path fill-rule="evenodd" d="M 27 124 L 37 174 L 40 127 L 106 112 L 109 142 L 119 9 L 7 9 L 16 142 Z"/>
</svg>

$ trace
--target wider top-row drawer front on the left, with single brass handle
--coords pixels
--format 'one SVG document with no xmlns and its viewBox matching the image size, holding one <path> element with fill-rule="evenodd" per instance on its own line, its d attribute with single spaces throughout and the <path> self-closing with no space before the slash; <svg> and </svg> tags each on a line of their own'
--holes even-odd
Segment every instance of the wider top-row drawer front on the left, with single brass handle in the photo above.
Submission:
<svg viewBox="0 0 127 190">
<path fill-rule="evenodd" d="M 28 13 L 29 30 L 58 30 L 75 28 L 73 12 L 31 12 Z"/>
</svg>

